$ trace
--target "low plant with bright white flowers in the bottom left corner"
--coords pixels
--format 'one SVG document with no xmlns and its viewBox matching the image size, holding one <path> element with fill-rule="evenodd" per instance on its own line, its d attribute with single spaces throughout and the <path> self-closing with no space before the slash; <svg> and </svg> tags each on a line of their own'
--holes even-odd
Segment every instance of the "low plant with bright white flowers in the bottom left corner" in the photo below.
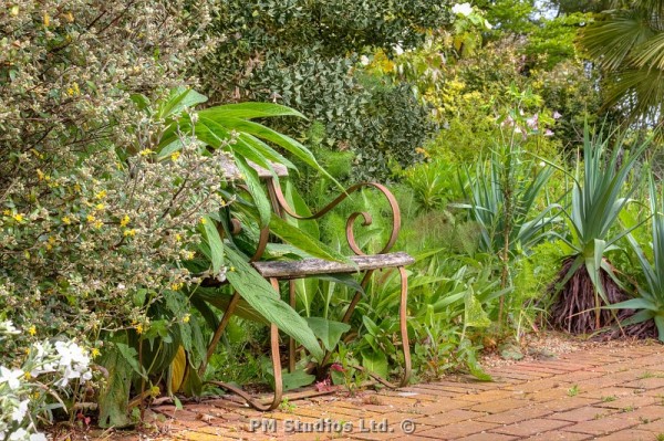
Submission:
<svg viewBox="0 0 664 441">
<path fill-rule="evenodd" d="M 12 335 L 20 332 L 0 322 L 0 343 Z M 90 379 L 90 356 L 71 340 L 33 344 L 19 368 L 0 364 L 0 441 L 45 441 L 34 416 L 50 420 L 53 409 L 65 408 L 60 396 L 72 393 L 72 381 Z"/>
</svg>

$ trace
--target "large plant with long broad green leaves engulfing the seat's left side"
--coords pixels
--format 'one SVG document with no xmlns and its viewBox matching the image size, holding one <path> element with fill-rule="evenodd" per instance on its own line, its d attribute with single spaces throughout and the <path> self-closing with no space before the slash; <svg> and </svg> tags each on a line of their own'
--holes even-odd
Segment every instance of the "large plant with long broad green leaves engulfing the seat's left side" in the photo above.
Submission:
<svg viewBox="0 0 664 441">
<path fill-rule="evenodd" d="M 291 161 L 268 144 L 271 143 L 325 174 L 313 155 L 300 143 L 252 120 L 301 115 L 280 105 L 259 103 L 193 111 L 193 107 L 206 99 L 188 88 L 174 90 L 163 102 L 157 103 L 151 103 L 143 96 L 135 97 L 147 117 L 164 124 L 162 130 L 154 136 L 152 148 L 123 151 L 124 160 L 133 164 L 135 157 L 147 157 L 156 162 L 176 162 L 185 156 L 194 156 L 200 160 L 219 161 L 224 174 L 219 175 L 220 183 L 216 190 L 218 209 L 203 216 L 198 228 L 188 233 L 200 238 L 195 249 L 184 250 L 188 254 L 183 263 L 188 276 L 163 292 L 137 290 L 135 302 L 145 308 L 145 318 L 134 329 L 115 333 L 110 338 L 112 344 L 108 345 L 102 364 L 113 375 L 100 400 L 102 426 L 122 426 L 127 422 L 126 408 L 129 406 L 132 380 L 134 389 L 141 390 L 137 400 L 132 401 L 134 405 L 139 403 L 146 393 L 153 393 L 153 388 L 146 389 L 148 381 L 158 385 L 166 375 L 172 390 L 200 392 L 198 369 L 204 369 L 201 366 L 205 366 L 209 353 L 206 354 L 205 328 L 188 308 L 189 305 L 196 307 L 214 329 L 218 323 L 215 308 L 227 307 L 231 290 L 240 293 L 242 298 L 238 306 L 239 315 L 260 323 L 273 323 L 301 343 L 314 357 L 321 358 L 323 355 L 307 321 L 282 302 L 270 284 L 249 265 L 249 258 L 240 246 L 222 239 L 222 232 L 230 230 L 229 208 L 237 207 L 236 211 L 238 216 L 243 216 L 242 219 L 256 221 L 259 228 L 269 225 L 277 234 L 288 237 L 295 248 L 298 242 L 303 243 L 310 255 L 343 259 L 323 245 L 319 246 L 318 241 L 304 233 L 289 229 L 283 223 L 276 223 L 258 172 L 250 166 L 252 162 L 272 174 L 273 162 L 294 168 Z M 185 185 L 187 179 L 188 175 L 183 176 L 180 183 Z M 249 197 L 243 197 L 243 192 Z M 178 192 L 175 191 L 174 200 L 177 196 Z M 177 217 L 178 212 L 166 210 L 163 216 Z M 210 279 L 228 281 L 231 290 L 200 286 Z"/>
</svg>

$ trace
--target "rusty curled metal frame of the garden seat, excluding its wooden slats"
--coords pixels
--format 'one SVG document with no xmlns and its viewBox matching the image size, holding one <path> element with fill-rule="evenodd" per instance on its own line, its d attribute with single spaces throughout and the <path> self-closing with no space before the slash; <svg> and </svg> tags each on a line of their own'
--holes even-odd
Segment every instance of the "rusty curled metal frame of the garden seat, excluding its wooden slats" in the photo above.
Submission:
<svg viewBox="0 0 664 441">
<path fill-rule="evenodd" d="M 345 192 L 343 192 L 339 197 L 336 197 L 333 201 L 331 201 L 325 207 L 323 207 L 321 210 L 317 211 L 315 213 L 313 213 L 311 216 L 300 216 L 288 204 L 287 198 L 284 197 L 283 192 L 281 191 L 281 187 L 279 185 L 277 177 L 273 176 L 271 172 L 264 172 L 264 171 L 267 171 L 267 170 L 259 170 L 259 176 L 261 177 L 261 179 L 263 179 L 263 181 L 267 186 L 268 195 L 270 197 L 270 202 L 271 202 L 273 212 L 282 219 L 286 219 L 287 217 L 291 217 L 293 219 L 301 220 L 301 221 L 317 220 L 317 219 L 320 219 L 323 216 L 325 216 L 328 212 L 330 212 L 336 206 L 339 206 L 343 200 L 345 200 L 353 192 L 359 191 L 363 188 L 376 189 L 380 193 L 382 193 L 386 198 L 387 202 L 390 203 L 390 208 L 392 210 L 393 222 L 392 222 L 392 231 L 390 234 L 390 239 L 387 240 L 387 243 L 375 255 L 388 253 L 390 250 L 392 249 L 392 246 L 394 245 L 394 243 L 396 242 L 396 239 L 397 239 L 397 235 L 398 235 L 398 232 L 401 229 L 401 211 L 400 211 L 396 199 L 394 198 L 392 192 L 383 185 L 376 183 L 376 182 L 362 182 L 362 183 L 354 185 L 354 186 L 350 187 L 347 190 L 345 190 Z M 288 174 L 284 170 L 280 170 L 280 171 L 281 172 L 278 174 L 277 176 L 288 176 Z M 346 230 L 345 231 L 346 241 L 349 243 L 349 246 L 355 253 L 356 256 L 366 256 L 367 254 L 365 254 L 357 245 L 357 243 L 355 241 L 355 235 L 353 232 L 353 225 L 355 223 L 355 220 L 359 217 L 363 218 L 363 222 L 362 222 L 363 227 L 369 227 L 372 224 L 373 220 L 369 212 L 353 212 L 346 221 L 346 229 L 345 229 Z M 241 225 L 239 224 L 239 222 L 237 220 L 234 220 L 232 223 L 234 223 L 234 225 L 232 225 L 234 233 L 238 233 L 241 230 Z M 268 245 L 269 238 L 270 238 L 269 228 L 266 227 L 266 228 L 261 229 L 257 250 L 250 259 L 250 262 L 255 263 L 255 267 L 257 266 L 256 263 L 261 259 L 261 256 L 266 250 L 266 246 Z M 404 354 L 404 374 L 402 376 L 400 386 L 405 386 L 408 382 L 408 379 L 411 377 L 411 370 L 412 370 L 411 351 L 409 351 L 409 344 L 408 344 L 408 330 L 407 330 L 407 322 L 406 322 L 408 282 L 407 282 L 407 273 L 405 271 L 405 266 L 400 265 L 400 266 L 394 266 L 394 267 L 397 269 L 397 271 L 400 273 L 400 277 L 401 277 L 400 334 L 401 334 L 401 339 L 402 339 L 401 346 L 402 346 L 403 354 Z M 370 282 L 371 276 L 374 273 L 374 271 L 375 271 L 375 269 L 369 269 L 369 270 L 364 271 L 364 275 L 363 275 L 362 282 L 361 282 L 362 291 L 355 292 L 355 294 L 354 294 L 351 303 L 349 304 L 349 307 L 346 308 L 346 312 L 342 318 L 342 323 L 350 322 L 351 316 L 355 309 L 355 306 L 357 305 L 357 303 L 361 300 L 362 292 L 369 285 L 369 282 Z M 344 272 L 344 273 L 347 274 L 351 272 Z M 323 273 L 321 273 L 321 274 L 323 274 Z M 321 275 L 321 274 L 318 274 L 318 275 Z M 310 273 L 304 276 L 315 276 L 315 275 L 317 274 Z M 280 294 L 279 280 L 288 280 L 288 282 L 289 282 L 289 304 L 291 307 L 294 308 L 295 307 L 294 281 L 297 279 L 301 279 L 301 277 L 298 276 L 298 274 L 292 274 L 292 276 L 288 276 L 288 277 L 272 276 L 272 277 L 266 277 L 266 279 L 269 280 L 269 282 L 272 285 L 272 287 L 274 288 L 274 291 L 277 291 L 277 293 L 279 293 L 279 294 Z M 240 294 L 236 291 L 232 294 L 232 297 L 230 300 L 228 307 L 224 312 L 224 315 L 221 317 L 221 321 L 219 322 L 219 325 L 217 326 L 217 329 L 215 330 L 212 339 L 208 346 L 206 359 L 209 360 L 209 358 L 214 354 L 215 348 L 216 348 L 217 344 L 219 343 L 219 339 L 221 338 L 221 335 L 224 334 L 224 330 L 226 329 L 226 327 L 230 321 L 230 317 L 232 316 L 239 301 L 240 301 Z M 271 349 L 271 360 L 272 360 L 273 372 L 274 372 L 274 390 L 273 390 L 273 397 L 271 400 L 269 400 L 269 402 L 258 400 L 258 399 L 253 398 L 251 395 L 247 393 L 246 391 L 243 391 L 232 385 L 228 385 L 228 384 L 221 382 L 221 381 L 209 381 L 209 382 L 238 395 L 248 405 L 250 405 L 251 407 L 253 407 L 258 410 L 267 411 L 267 410 L 276 409 L 281 403 L 281 400 L 282 400 L 283 381 L 282 381 L 281 355 L 280 355 L 280 348 L 279 348 L 279 329 L 278 329 L 277 325 L 274 325 L 274 324 L 270 325 L 270 349 Z M 332 355 L 331 351 L 329 351 L 329 350 L 325 351 L 324 358 L 319 364 L 319 366 L 324 366 L 329 361 L 331 355 Z M 288 369 L 291 372 L 294 371 L 294 369 L 295 369 L 295 361 L 297 361 L 295 358 L 297 358 L 295 342 L 292 337 L 289 337 Z M 200 367 L 200 374 L 203 374 L 205 371 L 205 368 L 206 368 L 206 363 L 204 363 L 204 365 Z M 360 368 L 360 367 L 357 367 L 357 369 L 362 370 L 362 368 Z M 392 385 L 391 382 L 386 381 L 383 378 L 380 378 L 378 376 L 376 376 L 372 372 L 367 372 L 367 374 L 372 378 L 374 378 L 376 381 L 380 381 L 387 387 L 391 387 L 391 388 L 396 387 L 395 385 Z M 321 392 L 312 391 L 311 393 L 304 393 L 304 395 L 300 393 L 298 398 L 304 398 L 305 396 L 311 397 L 314 395 L 321 395 Z"/>
</svg>

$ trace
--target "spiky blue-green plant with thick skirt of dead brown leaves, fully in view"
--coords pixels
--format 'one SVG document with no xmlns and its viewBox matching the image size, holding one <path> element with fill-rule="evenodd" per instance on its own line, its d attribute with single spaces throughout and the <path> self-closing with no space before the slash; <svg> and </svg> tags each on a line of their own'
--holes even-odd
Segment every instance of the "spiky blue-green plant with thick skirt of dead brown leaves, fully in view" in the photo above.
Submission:
<svg viewBox="0 0 664 441">
<path fill-rule="evenodd" d="M 611 135 L 616 139 L 606 158 Z M 593 333 L 614 321 L 605 305 L 624 301 L 604 253 L 616 249 L 615 242 L 631 230 L 615 231 L 618 217 L 636 186 L 624 189 L 637 159 L 650 144 L 644 141 L 621 160 L 624 137 L 613 133 L 583 134 L 583 167 L 577 165 L 571 207 L 566 210 L 573 251 L 563 261 L 553 285 L 557 298 L 551 307 L 553 326 L 573 334 Z M 606 160 L 608 159 L 608 160 Z"/>
</svg>

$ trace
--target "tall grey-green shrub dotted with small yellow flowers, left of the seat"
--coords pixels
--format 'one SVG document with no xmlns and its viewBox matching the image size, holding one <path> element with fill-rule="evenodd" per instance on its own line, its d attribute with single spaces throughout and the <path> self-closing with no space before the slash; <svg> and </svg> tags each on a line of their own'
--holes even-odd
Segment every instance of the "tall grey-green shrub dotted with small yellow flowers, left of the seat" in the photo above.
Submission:
<svg viewBox="0 0 664 441">
<path fill-rule="evenodd" d="M 186 277 L 199 238 L 185 231 L 218 167 L 186 146 L 155 160 L 164 122 L 134 96 L 154 102 L 183 81 L 206 8 L 20 0 L 0 13 L 0 311 L 27 329 L 3 357 L 133 326 L 131 287 L 159 294 Z"/>
</svg>

